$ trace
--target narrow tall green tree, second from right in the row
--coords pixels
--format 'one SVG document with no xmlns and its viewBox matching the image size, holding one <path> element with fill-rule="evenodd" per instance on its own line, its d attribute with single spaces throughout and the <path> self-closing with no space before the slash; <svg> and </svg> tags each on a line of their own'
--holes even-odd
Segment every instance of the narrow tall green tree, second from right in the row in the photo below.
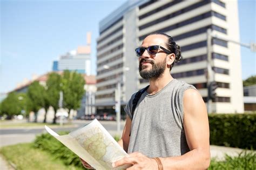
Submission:
<svg viewBox="0 0 256 170">
<path fill-rule="evenodd" d="M 60 92 L 61 76 L 55 72 L 50 73 L 46 81 L 46 98 L 47 104 L 53 107 L 55 112 L 52 123 L 56 124 L 56 112 L 59 108 L 59 92 Z"/>
</svg>

